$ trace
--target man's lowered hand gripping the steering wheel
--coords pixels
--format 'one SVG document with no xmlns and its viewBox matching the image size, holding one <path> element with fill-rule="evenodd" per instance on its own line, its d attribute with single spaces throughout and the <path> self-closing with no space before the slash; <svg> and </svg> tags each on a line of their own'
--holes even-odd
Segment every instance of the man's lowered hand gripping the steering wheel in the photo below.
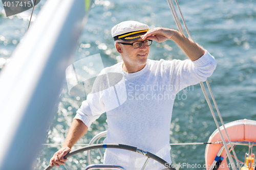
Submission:
<svg viewBox="0 0 256 170">
<path fill-rule="evenodd" d="M 59 167 L 59 164 L 65 165 L 65 161 L 67 161 L 68 158 L 64 158 L 64 156 L 67 155 L 67 153 L 69 153 L 70 151 L 71 149 L 69 147 L 62 147 L 51 158 L 50 166 L 55 165 Z"/>
</svg>

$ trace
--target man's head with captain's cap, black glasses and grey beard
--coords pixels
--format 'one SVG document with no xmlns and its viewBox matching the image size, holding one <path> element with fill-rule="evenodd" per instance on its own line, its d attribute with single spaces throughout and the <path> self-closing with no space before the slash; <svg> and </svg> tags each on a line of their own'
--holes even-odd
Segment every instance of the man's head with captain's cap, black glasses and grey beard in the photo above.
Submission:
<svg viewBox="0 0 256 170">
<path fill-rule="evenodd" d="M 115 40 L 116 49 L 126 66 L 146 64 L 151 41 L 147 41 L 147 38 L 142 40 L 140 36 L 149 29 L 150 27 L 137 21 L 120 22 L 112 28 L 111 33 Z"/>
</svg>

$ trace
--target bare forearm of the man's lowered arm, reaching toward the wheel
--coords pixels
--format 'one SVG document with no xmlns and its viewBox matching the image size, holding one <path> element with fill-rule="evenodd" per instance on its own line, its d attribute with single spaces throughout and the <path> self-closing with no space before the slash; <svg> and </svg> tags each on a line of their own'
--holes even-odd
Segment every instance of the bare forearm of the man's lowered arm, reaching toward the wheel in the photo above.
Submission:
<svg viewBox="0 0 256 170">
<path fill-rule="evenodd" d="M 88 127 L 79 119 L 74 119 L 70 127 L 68 136 L 62 145 L 62 147 L 72 148 L 73 145 L 79 140 L 84 134 L 86 134 Z"/>
</svg>

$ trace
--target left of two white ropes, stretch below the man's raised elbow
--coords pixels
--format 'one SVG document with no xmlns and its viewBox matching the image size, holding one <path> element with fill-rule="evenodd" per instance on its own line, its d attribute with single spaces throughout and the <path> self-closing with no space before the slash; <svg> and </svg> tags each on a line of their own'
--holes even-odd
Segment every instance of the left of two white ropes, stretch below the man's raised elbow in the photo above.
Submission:
<svg viewBox="0 0 256 170">
<path fill-rule="evenodd" d="M 204 96 L 205 96 L 205 99 L 206 99 L 206 101 L 207 101 L 207 104 L 208 104 L 208 106 L 209 106 L 209 108 L 210 108 L 211 114 L 212 114 L 212 116 L 214 117 L 214 121 L 215 121 L 215 124 L 216 124 L 216 126 L 217 126 L 217 128 L 218 128 L 218 131 L 219 131 L 219 133 L 220 133 L 221 140 L 223 141 L 224 148 L 225 148 L 226 151 L 228 151 L 227 143 L 224 142 L 225 139 L 224 139 L 223 134 L 222 134 L 222 132 L 221 132 L 221 129 L 220 129 L 220 126 L 219 126 L 219 124 L 218 124 L 217 118 L 216 118 L 216 116 L 215 116 L 214 110 L 212 109 L 212 106 L 211 106 L 211 103 L 210 103 L 210 100 L 209 100 L 209 98 L 208 98 L 208 95 L 207 95 L 207 92 L 206 92 L 206 90 L 205 90 L 205 87 L 204 87 L 203 82 L 200 82 L 200 85 L 201 85 L 202 90 L 203 90 L 203 92 L 204 92 Z M 232 146 L 231 146 L 231 147 L 232 147 Z M 231 164 L 234 164 L 233 158 L 231 157 L 230 152 L 226 152 L 226 153 L 227 153 L 229 162 L 230 162 Z M 237 170 L 236 166 L 231 166 L 231 167 L 232 167 L 232 169 L 236 169 L 236 170 Z"/>
</svg>

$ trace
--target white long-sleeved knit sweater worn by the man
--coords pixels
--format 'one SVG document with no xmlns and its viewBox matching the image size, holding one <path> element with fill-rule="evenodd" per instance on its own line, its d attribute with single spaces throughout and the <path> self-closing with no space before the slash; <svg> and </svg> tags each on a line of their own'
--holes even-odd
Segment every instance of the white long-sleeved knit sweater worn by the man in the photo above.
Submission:
<svg viewBox="0 0 256 170">
<path fill-rule="evenodd" d="M 215 68 L 215 58 L 207 51 L 196 61 L 148 59 L 143 69 L 132 74 L 122 69 L 122 62 L 117 63 L 104 68 L 101 75 L 117 72 L 122 80 L 89 94 L 75 119 L 90 127 L 106 111 L 109 129 L 104 143 L 132 145 L 171 163 L 169 130 L 175 95 L 189 85 L 205 81 Z M 126 170 L 141 169 L 145 160 L 139 153 L 118 149 L 107 149 L 104 155 L 104 163 Z M 165 167 L 153 159 L 145 167 L 162 168 Z"/>
</svg>

